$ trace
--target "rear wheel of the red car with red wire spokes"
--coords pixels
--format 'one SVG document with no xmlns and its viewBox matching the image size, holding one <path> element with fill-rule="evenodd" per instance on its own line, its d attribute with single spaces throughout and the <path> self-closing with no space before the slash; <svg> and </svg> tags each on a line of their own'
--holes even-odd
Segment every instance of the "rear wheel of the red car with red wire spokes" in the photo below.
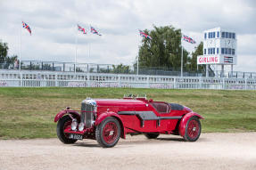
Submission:
<svg viewBox="0 0 256 170">
<path fill-rule="evenodd" d="M 194 124 L 194 125 L 193 125 Z M 186 122 L 186 130 L 183 138 L 187 142 L 195 142 L 201 134 L 201 123 L 198 117 L 190 117 Z"/>
</svg>

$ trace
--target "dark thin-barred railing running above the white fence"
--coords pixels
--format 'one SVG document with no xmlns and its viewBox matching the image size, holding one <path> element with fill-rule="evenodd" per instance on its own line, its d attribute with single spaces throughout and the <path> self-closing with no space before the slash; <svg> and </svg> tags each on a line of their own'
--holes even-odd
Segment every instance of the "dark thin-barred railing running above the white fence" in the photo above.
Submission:
<svg viewBox="0 0 256 170">
<path fill-rule="evenodd" d="M 41 70 L 41 71 L 58 71 L 58 72 L 76 72 L 78 73 L 109 73 L 109 74 L 129 74 L 136 75 L 136 66 L 128 65 L 111 65 L 111 64 L 94 64 L 94 63 L 73 63 L 73 62 L 56 62 L 56 61 L 22 61 L 21 70 Z M 0 63 L 0 69 L 19 69 L 19 64 Z M 180 69 L 174 68 L 149 68 L 139 67 L 139 75 L 153 76 L 172 76 L 180 77 Z M 184 69 L 183 77 L 206 77 L 205 71 Z M 255 72 L 240 71 L 211 71 L 209 77 L 235 77 L 235 78 L 252 78 L 256 79 Z"/>
</svg>

